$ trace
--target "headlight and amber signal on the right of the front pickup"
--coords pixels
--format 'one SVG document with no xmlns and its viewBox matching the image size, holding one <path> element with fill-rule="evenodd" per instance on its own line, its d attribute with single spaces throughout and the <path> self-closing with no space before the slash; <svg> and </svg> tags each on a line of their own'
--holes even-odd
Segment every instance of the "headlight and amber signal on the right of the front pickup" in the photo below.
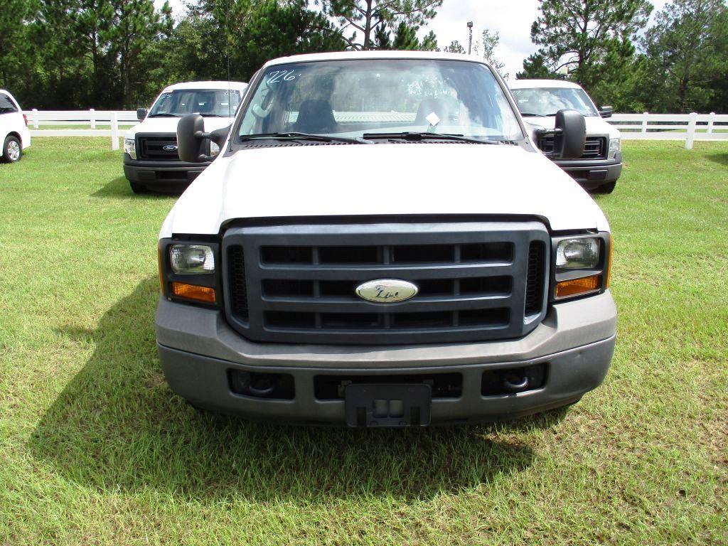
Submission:
<svg viewBox="0 0 728 546">
<path fill-rule="evenodd" d="M 609 288 L 612 237 L 554 237 L 552 263 L 553 300 L 601 293 Z"/>
</svg>

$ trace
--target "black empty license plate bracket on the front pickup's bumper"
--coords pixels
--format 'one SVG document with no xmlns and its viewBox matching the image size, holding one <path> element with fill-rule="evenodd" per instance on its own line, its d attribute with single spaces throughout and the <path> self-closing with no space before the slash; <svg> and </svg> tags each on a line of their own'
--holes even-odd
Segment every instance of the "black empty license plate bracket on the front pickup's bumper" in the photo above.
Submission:
<svg viewBox="0 0 728 546">
<path fill-rule="evenodd" d="M 356 384 L 344 389 L 349 427 L 426 427 L 430 424 L 430 385 Z"/>
</svg>

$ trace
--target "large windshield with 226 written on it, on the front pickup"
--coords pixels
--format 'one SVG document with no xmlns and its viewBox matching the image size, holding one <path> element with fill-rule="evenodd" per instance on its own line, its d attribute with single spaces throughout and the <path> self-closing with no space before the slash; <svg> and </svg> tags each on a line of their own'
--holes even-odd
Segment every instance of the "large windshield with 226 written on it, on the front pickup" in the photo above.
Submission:
<svg viewBox="0 0 728 546">
<path fill-rule="evenodd" d="M 523 137 L 492 72 L 480 63 L 430 59 L 331 60 L 266 69 L 238 135 L 372 138 L 438 132 L 483 141 Z"/>
</svg>

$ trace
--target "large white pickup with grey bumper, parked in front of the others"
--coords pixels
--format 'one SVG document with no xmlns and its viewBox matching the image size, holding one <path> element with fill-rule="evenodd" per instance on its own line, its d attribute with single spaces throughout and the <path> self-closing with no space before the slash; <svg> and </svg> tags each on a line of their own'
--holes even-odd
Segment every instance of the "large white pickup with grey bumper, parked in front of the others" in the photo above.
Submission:
<svg viewBox="0 0 728 546">
<path fill-rule="evenodd" d="M 617 311 L 596 202 L 480 60 L 271 60 L 159 234 L 157 344 L 192 405 L 352 427 L 505 419 L 606 375 Z M 555 153 L 585 122 L 555 116 Z"/>
</svg>

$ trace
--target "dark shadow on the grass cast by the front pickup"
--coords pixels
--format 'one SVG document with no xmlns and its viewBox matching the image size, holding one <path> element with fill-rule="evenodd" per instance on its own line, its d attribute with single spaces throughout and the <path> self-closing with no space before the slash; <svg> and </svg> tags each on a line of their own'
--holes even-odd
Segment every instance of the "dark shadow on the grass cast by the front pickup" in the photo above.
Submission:
<svg viewBox="0 0 728 546">
<path fill-rule="evenodd" d="M 149 279 L 109 309 L 96 331 L 63 331 L 96 349 L 41 418 L 29 447 L 68 480 L 211 502 L 233 495 L 258 502 L 431 498 L 529 467 L 531 448 L 509 432 L 563 418 L 557 411 L 513 427 L 348 430 L 201 414 L 162 376 L 156 300 L 157 282 Z"/>
</svg>

